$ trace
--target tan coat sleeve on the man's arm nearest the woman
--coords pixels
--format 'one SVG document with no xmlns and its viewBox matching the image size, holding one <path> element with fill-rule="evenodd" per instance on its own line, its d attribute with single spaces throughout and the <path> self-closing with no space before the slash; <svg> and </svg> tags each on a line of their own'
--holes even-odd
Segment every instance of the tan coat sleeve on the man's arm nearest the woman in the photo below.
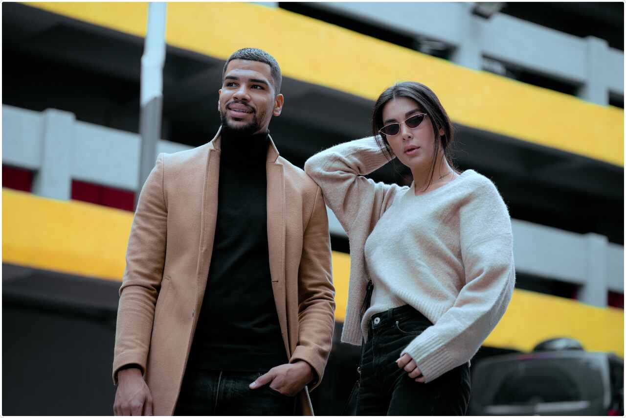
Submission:
<svg viewBox="0 0 626 418">
<path fill-rule="evenodd" d="M 314 389 L 324 375 L 335 324 L 331 242 L 326 204 L 319 187 L 304 231 L 298 282 L 298 344 L 289 362 L 309 363 L 316 374 L 310 384 Z"/>
</svg>

